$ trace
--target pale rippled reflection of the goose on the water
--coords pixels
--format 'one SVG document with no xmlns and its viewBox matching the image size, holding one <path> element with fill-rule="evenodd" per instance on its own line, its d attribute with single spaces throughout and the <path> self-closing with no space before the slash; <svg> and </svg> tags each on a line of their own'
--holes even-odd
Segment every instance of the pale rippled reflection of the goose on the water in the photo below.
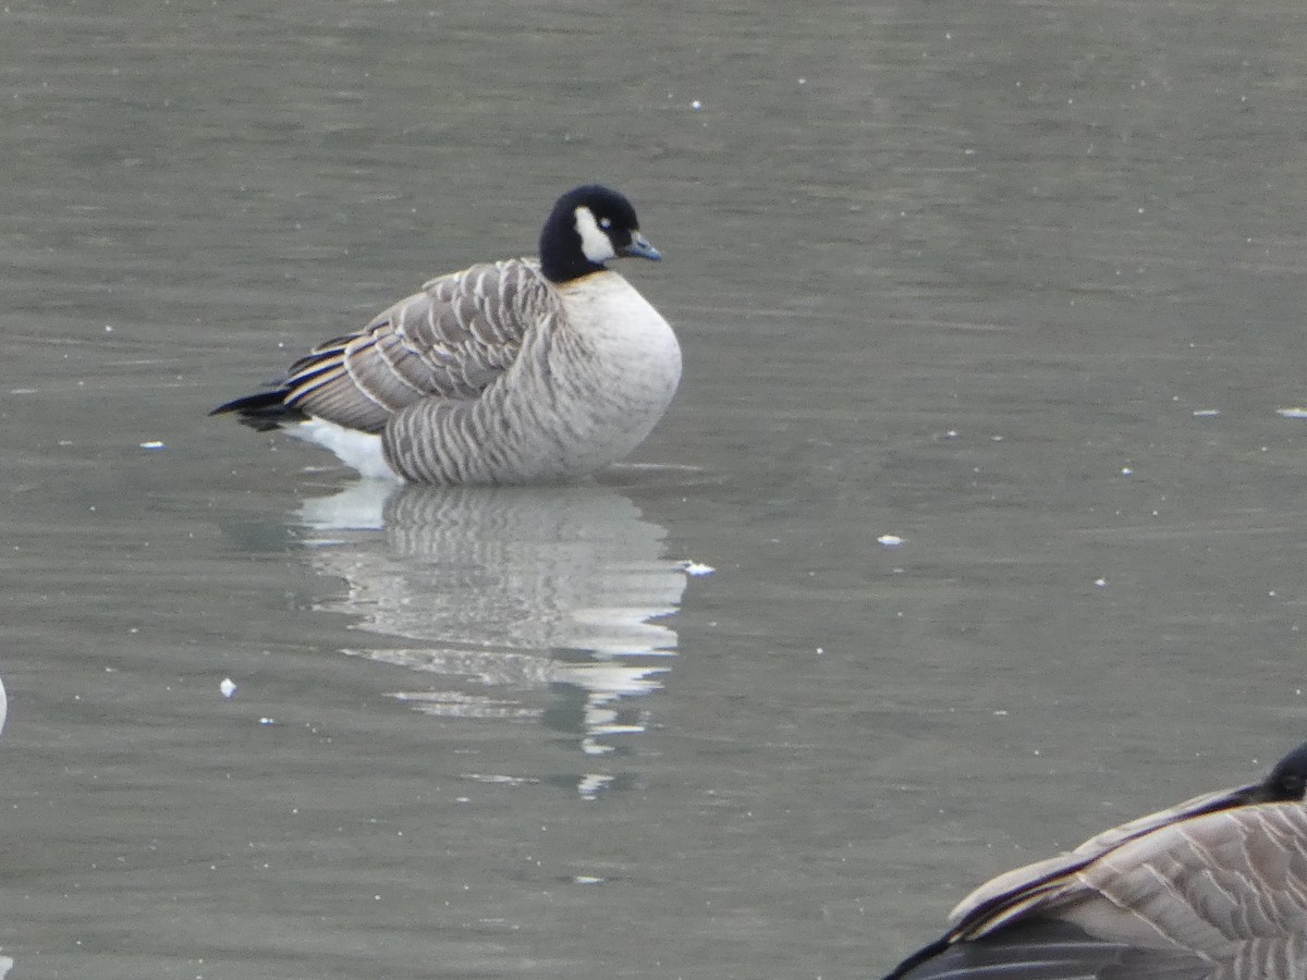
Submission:
<svg viewBox="0 0 1307 980">
<path fill-rule="evenodd" d="M 588 755 L 643 730 L 633 698 L 669 669 L 677 638 L 657 619 L 685 574 L 663 557 L 664 529 L 617 491 L 362 482 L 301 517 L 319 536 L 314 566 L 349 587 L 324 608 L 418 642 L 348 651 L 430 685 L 395 696 L 431 715 L 540 719 Z M 609 780 L 579 784 L 593 794 Z"/>
</svg>

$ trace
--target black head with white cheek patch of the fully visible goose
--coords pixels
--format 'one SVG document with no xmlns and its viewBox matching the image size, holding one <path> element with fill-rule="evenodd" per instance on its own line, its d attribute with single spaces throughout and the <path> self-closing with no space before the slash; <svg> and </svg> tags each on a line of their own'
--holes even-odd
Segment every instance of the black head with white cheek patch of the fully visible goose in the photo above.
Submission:
<svg viewBox="0 0 1307 980">
<path fill-rule="evenodd" d="M 540 233 L 540 268 L 553 282 L 588 276 L 621 256 L 661 259 L 640 234 L 635 208 L 600 184 L 576 187 L 554 204 Z"/>
</svg>

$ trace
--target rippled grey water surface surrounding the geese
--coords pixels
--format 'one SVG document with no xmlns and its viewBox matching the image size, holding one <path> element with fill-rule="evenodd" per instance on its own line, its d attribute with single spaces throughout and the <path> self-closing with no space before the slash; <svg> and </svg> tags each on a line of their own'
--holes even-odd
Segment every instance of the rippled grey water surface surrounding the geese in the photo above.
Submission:
<svg viewBox="0 0 1307 980">
<path fill-rule="evenodd" d="M 10 980 L 878 976 L 1256 775 L 1304 52 L 1269 1 L 5 7 Z M 593 179 L 686 361 L 629 465 L 378 493 L 205 417 Z"/>
</svg>

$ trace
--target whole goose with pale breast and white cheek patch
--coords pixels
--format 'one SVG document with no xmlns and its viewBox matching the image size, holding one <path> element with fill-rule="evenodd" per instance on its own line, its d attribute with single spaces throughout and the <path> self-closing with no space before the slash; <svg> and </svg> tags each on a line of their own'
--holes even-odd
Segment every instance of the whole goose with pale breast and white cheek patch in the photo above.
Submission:
<svg viewBox="0 0 1307 980">
<path fill-rule="evenodd" d="M 367 477 L 525 483 L 593 473 L 631 452 L 681 378 L 672 328 L 605 263 L 661 257 L 635 209 L 597 184 L 558 199 L 538 259 L 427 282 L 327 341 L 268 392 L 220 405 L 288 427 Z"/>
</svg>

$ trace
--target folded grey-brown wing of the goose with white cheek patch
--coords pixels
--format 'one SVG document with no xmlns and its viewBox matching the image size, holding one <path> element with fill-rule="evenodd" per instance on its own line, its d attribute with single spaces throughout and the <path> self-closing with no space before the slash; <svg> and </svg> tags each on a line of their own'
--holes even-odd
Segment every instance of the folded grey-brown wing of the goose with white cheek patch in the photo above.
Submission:
<svg viewBox="0 0 1307 980">
<path fill-rule="evenodd" d="M 380 433 L 426 399 L 477 399 L 518 357 L 557 293 L 532 259 L 473 265 L 425 284 L 356 333 L 290 367 L 285 402 L 337 425 Z"/>
</svg>

